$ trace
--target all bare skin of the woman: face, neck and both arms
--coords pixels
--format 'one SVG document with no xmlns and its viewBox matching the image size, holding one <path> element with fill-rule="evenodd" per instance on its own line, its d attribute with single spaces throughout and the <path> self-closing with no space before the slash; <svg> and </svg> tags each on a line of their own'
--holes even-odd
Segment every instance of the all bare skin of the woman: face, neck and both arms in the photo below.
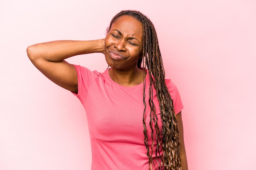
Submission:
<svg viewBox="0 0 256 170">
<path fill-rule="evenodd" d="M 105 39 L 91 41 L 51 41 L 27 48 L 31 62 L 47 78 L 57 85 L 78 93 L 77 74 L 74 66 L 65 59 L 80 54 L 101 52 L 105 54 L 110 77 L 124 86 L 143 82 L 143 71 L 137 67 L 143 44 L 142 24 L 135 18 L 124 15 L 111 26 Z M 187 170 L 181 112 L 176 115 L 180 139 L 182 170 Z"/>
</svg>

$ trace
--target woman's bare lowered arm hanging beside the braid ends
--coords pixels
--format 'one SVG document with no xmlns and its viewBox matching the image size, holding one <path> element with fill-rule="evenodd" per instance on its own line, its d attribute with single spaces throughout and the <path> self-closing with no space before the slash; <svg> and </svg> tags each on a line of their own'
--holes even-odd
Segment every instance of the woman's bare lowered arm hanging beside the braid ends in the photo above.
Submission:
<svg viewBox="0 0 256 170">
<path fill-rule="evenodd" d="M 181 111 L 176 115 L 176 120 L 178 123 L 178 130 L 179 130 L 181 167 L 182 167 L 182 170 L 188 170 L 188 163 L 186 161 L 186 150 L 185 150 L 184 137 L 183 137 L 183 124 L 182 124 Z"/>
</svg>

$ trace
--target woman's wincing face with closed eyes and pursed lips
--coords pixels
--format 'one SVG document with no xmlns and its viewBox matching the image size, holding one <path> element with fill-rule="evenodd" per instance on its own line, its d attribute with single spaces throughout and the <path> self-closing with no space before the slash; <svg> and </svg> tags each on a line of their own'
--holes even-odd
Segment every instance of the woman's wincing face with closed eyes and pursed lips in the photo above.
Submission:
<svg viewBox="0 0 256 170">
<path fill-rule="evenodd" d="M 111 68 L 130 71 L 142 57 L 142 23 L 129 15 L 119 17 L 105 38 L 105 58 Z"/>
</svg>

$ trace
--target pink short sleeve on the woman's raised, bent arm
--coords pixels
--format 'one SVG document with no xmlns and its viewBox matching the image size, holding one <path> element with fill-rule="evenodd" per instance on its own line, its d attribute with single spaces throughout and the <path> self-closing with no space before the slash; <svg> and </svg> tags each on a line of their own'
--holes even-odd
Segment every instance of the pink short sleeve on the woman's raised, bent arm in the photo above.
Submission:
<svg viewBox="0 0 256 170">
<path fill-rule="evenodd" d="M 78 97 L 83 104 L 90 84 L 99 76 L 99 74 L 96 71 L 92 72 L 88 68 L 80 65 L 74 65 L 74 67 L 76 68 L 77 73 L 78 94 L 73 94 Z"/>
</svg>

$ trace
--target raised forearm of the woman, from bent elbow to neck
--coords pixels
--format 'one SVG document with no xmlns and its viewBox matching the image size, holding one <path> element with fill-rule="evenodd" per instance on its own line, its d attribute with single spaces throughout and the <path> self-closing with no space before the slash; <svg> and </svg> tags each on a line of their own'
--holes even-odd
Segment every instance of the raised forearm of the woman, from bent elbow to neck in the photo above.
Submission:
<svg viewBox="0 0 256 170">
<path fill-rule="evenodd" d="M 94 52 L 104 52 L 103 39 L 92 41 L 50 41 L 34 44 L 27 48 L 27 54 L 31 61 L 45 59 L 47 61 L 59 62 L 75 55 Z"/>
</svg>

